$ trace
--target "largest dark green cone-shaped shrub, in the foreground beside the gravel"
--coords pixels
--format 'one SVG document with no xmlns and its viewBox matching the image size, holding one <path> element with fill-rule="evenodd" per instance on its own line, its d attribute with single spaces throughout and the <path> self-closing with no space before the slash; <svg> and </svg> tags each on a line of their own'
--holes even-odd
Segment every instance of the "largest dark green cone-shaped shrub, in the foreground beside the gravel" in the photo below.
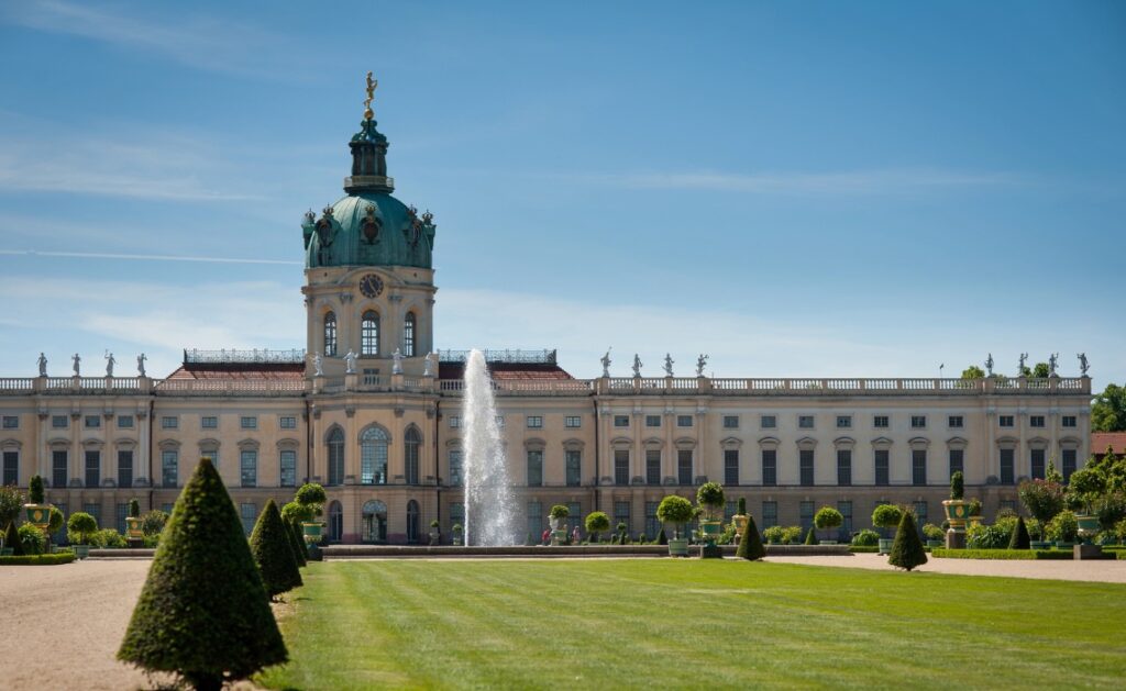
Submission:
<svg viewBox="0 0 1126 691">
<path fill-rule="evenodd" d="M 207 690 L 286 662 L 242 522 L 209 459 L 161 533 L 117 658 Z"/>
</svg>

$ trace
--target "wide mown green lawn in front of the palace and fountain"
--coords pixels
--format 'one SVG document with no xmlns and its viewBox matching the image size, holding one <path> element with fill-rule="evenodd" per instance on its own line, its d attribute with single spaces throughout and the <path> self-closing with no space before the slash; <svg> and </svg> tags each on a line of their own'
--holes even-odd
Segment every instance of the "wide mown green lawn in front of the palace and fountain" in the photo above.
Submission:
<svg viewBox="0 0 1126 691">
<path fill-rule="evenodd" d="M 328 562 L 271 688 L 1121 688 L 1126 585 L 698 559 Z"/>
</svg>

